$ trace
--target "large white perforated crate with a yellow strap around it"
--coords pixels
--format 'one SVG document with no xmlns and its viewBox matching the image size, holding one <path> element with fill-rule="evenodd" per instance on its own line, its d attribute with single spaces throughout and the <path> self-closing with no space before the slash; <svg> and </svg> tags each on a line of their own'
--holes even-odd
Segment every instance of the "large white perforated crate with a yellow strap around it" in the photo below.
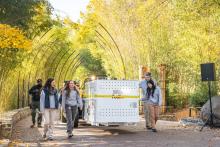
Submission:
<svg viewBox="0 0 220 147">
<path fill-rule="evenodd" d="M 139 81 L 95 80 L 86 83 L 84 119 L 92 125 L 139 122 Z"/>
</svg>

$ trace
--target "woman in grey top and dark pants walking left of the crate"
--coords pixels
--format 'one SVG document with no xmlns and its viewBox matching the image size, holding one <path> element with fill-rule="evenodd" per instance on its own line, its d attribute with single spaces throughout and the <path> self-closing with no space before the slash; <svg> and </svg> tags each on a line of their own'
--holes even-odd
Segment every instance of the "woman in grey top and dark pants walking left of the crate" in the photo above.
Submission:
<svg viewBox="0 0 220 147">
<path fill-rule="evenodd" d="M 78 113 L 78 107 L 80 108 L 80 110 L 82 110 L 83 107 L 82 99 L 79 96 L 79 91 L 77 90 L 74 82 L 69 81 L 63 92 L 63 99 L 62 99 L 62 108 L 64 110 L 64 113 L 66 113 L 66 119 L 67 119 L 68 137 L 73 136 L 72 132 L 74 128 L 74 121 Z"/>
</svg>

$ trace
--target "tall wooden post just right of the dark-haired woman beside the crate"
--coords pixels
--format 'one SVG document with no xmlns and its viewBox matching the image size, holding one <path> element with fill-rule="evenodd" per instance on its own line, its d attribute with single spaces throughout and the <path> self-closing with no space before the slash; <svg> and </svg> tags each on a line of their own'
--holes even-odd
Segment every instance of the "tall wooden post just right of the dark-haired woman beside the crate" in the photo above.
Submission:
<svg viewBox="0 0 220 147">
<path fill-rule="evenodd" d="M 162 109 L 161 112 L 166 112 L 166 65 L 161 64 L 160 68 L 160 88 L 162 93 Z"/>
</svg>

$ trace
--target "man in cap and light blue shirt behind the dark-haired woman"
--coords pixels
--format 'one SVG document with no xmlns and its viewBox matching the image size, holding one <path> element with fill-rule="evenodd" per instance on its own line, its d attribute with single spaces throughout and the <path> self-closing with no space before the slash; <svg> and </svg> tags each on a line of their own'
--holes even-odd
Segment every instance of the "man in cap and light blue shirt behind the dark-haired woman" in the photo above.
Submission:
<svg viewBox="0 0 220 147">
<path fill-rule="evenodd" d="M 150 120 L 150 111 L 149 111 L 149 104 L 148 104 L 148 100 L 145 99 L 146 98 L 146 94 L 147 94 L 147 83 L 148 81 L 153 80 L 151 77 L 151 73 L 147 72 L 144 75 L 144 80 L 141 81 L 139 83 L 139 88 L 142 90 L 142 95 L 141 95 L 141 100 L 143 102 L 143 108 L 144 108 L 144 117 L 145 117 L 145 126 L 147 129 L 152 129 L 151 126 L 151 120 Z M 156 81 L 153 80 L 155 85 L 156 85 Z"/>
</svg>

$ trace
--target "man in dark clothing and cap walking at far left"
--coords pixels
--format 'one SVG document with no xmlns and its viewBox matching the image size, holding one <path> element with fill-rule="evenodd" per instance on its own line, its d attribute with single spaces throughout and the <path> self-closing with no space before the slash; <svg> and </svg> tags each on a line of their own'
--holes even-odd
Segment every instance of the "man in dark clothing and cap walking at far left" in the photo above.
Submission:
<svg viewBox="0 0 220 147">
<path fill-rule="evenodd" d="M 37 84 L 34 85 L 29 91 L 28 93 L 32 96 L 32 102 L 31 102 L 31 116 L 32 116 L 32 125 L 31 128 L 33 128 L 35 126 L 35 118 L 36 118 L 36 113 L 37 113 L 37 109 L 38 111 L 40 111 L 40 93 L 41 93 L 41 89 L 42 89 L 42 80 L 38 79 L 37 80 Z M 42 115 L 40 113 L 38 113 L 38 118 L 37 118 L 37 126 L 41 127 L 41 121 L 42 121 Z"/>
</svg>

